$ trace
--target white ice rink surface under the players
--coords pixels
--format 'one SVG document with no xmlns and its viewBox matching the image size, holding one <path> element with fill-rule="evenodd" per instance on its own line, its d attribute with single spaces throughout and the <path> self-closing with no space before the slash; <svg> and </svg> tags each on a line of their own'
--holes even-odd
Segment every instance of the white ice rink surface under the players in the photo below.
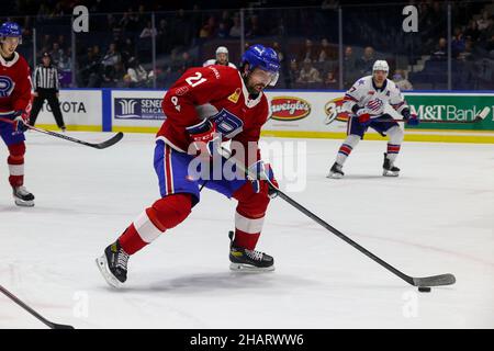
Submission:
<svg viewBox="0 0 494 351">
<path fill-rule="evenodd" d="M 131 258 L 130 279 L 115 291 L 94 259 L 159 196 L 154 136 L 126 134 L 105 150 L 34 132 L 27 137 L 25 184 L 36 195 L 34 208 L 14 206 L 7 148 L 0 148 L 0 284 L 56 322 L 494 328 L 494 145 L 404 143 L 402 174 L 383 178 L 385 141 L 362 141 L 346 177 L 329 180 L 340 140 L 296 140 L 296 150 L 306 148 L 306 185 L 289 192 L 294 200 L 406 274 L 453 273 L 456 285 L 418 293 L 281 199 L 271 202 L 258 245 L 277 270 L 231 272 L 235 202 L 204 190 L 182 225 Z M 0 294 L 0 328 L 44 327 Z"/>
</svg>

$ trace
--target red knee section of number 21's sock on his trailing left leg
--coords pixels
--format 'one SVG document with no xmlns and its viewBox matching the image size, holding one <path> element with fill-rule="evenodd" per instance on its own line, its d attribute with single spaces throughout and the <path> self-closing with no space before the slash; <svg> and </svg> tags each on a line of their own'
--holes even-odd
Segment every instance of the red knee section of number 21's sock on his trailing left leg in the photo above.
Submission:
<svg viewBox="0 0 494 351">
<path fill-rule="evenodd" d="M 165 231 L 182 223 L 192 211 L 192 199 L 190 194 L 172 194 L 156 201 L 148 208 L 149 217 L 154 217 L 155 225 Z"/>
</svg>

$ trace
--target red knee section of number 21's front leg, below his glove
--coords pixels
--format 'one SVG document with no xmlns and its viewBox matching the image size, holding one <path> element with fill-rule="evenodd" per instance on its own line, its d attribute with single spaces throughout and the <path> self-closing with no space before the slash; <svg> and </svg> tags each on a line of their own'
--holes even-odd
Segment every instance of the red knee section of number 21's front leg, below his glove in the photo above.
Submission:
<svg viewBox="0 0 494 351">
<path fill-rule="evenodd" d="M 234 197 L 238 200 L 238 213 L 249 218 L 263 217 L 270 201 L 268 184 L 261 186 L 259 193 L 255 193 L 250 182 L 247 182 L 234 194 Z"/>
</svg>

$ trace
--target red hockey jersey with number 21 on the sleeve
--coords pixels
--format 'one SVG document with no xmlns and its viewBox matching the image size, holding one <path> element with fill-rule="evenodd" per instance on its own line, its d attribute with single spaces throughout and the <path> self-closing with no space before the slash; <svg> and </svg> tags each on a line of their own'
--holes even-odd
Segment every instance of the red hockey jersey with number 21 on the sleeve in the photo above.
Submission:
<svg viewBox="0 0 494 351">
<path fill-rule="evenodd" d="M 168 90 L 162 103 L 166 121 L 157 134 L 172 148 L 187 152 L 192 139 L 187 127 L 211 118 L 224 140 L 244 145 L 255 143 L 256 160 L 260 158 L 257 141 L 270 109 L 261 92 L 256 99 L 249 93 L 237 69 L 227 66 L 191 68 Z M 246 159 L 252 159 L 247 156 Z"/>
</svg>

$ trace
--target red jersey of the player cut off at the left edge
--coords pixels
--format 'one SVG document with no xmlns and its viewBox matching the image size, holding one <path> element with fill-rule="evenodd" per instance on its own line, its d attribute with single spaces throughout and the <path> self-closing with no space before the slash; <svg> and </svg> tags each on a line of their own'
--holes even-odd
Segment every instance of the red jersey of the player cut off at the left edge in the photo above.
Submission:
<svg viewBox="0 0 494 351">
<path fill-rule="evenodd" d="M 31 111 L 30 66 L 18 53 L 9 61 L 0 55 L 0 115 L 20 110 Z"/>
</svg>

